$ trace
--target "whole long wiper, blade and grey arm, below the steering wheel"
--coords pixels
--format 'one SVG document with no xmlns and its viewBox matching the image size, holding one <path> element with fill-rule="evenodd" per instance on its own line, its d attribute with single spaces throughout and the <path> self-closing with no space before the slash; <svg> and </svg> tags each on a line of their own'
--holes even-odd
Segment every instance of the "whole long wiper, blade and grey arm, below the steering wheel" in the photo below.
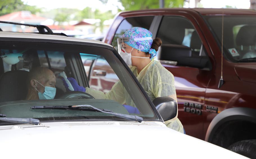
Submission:
<svg viewBox="0 0 256 159">
<path fill-rule="evenodd" d="M 52 108 L 51 108 L 52 107 Z M 137 115 L 128 115 L 128 114 L 121 114 L 121 113 L 114 113 L 111 110 L 105 110 L 105 109 L 98 109 L 94 106 L 91 105 L 81 105 L 81 106 L 75 106 L 75 107 L 71 107 L 71 106 L 33 106 L 31 107 L 31 109 L 68 109 L 68 110 L 83 110 L 85 109 L 87 110 L 93 110 L 93 111 L 100 111 L 102 113 L 107 113 L 107 114 L 112 114 L 114 116 L 120 117 L 120 118 L 124 118 L 124 119 L 130 119 L 130 120 L 134 120 L 134 121 L 138 121 L 138 122 L 142 122 L 143 118 Z"/>
</svg>

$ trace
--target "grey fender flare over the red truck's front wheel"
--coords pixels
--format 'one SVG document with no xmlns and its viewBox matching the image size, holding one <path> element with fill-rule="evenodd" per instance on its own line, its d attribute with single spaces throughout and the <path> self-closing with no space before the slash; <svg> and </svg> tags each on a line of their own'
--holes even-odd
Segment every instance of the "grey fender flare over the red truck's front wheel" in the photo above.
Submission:
<svg viewBox="0 0 256 159">
<path fill-rule="evenodd" d="M 256 109 L 244 107 L 225 109 L 215 116 L 210 123 L 206 132 L 205 141 L 211 142 L 218 128 L 224 123 L 232 120 L 243 120 L 256 123 Z"/>
</svg>

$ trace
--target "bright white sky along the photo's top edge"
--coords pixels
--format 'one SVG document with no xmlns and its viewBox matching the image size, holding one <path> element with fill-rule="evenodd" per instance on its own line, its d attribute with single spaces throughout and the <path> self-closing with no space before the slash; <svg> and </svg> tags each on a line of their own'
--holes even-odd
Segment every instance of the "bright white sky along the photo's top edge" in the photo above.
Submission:
<svg viewBox="0 0 256 159">
<path fill-rule="evenodd" d="M 112 10 L 113 13 L 117 13 L 117 8 L 123 10 L 123 6 L 118 0 L 108 0 L 107 4 L 102 4 L 99 0 L 44 0 L 43 3 L 40 0 L 22 0 L 28 5 L 38 6 L 40 8 L 54 9 L 54 8 L 77 8 L 84 9 L 90 7 L 93 9 L 99 9 L 104 11 Z M 158 1 L 158 0 L 156 0 Z M 250 0 L 201 0 L 200 2 L 204 8 L 223 8 L 226 5 L 236 8 L 249 9 Z M 118 6 L 118 7 L 117 7 Z M 194 7 L 194 0 L 190 0 L 190 5 L 185 3 L 186 8 Z"/>
</svg>

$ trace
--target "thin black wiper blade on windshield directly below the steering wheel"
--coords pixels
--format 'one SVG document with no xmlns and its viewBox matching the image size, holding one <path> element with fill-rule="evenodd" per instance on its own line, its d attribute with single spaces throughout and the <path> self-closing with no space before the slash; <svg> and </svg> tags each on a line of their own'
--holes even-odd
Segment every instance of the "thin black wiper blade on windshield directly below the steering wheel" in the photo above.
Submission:
<svg viewBox="0 0 256 159">
<path fill-rule="evenodd" d="M 96 111 L 98 112 L 97 109 L 94 109 L 92 107 L 85 107 L 85 106 L 76 106 L 76 107 L 72 107 L 72 106 L 33 106 L 30 107 L 31 109 L 58 109 L 58 110 L 78 110 L 78 111 Z M 102 111 L 107 111 L 107 112 L 113 112 L 111 110 L 107 110 L 107 109 L 100 109 Z"/>
</svg>

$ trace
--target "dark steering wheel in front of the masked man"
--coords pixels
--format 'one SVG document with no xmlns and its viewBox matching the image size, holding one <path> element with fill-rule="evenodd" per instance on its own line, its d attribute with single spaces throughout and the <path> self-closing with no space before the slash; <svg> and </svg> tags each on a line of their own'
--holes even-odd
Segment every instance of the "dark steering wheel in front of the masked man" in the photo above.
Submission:
<svg viewBox="0 0 256 159">
<path fill-rule="evenodd" d="M 64 93 L 58 99 L 95 99 L 95 98 L 92 95 L 85 92 L 71 91 L 71 92 Z"/>
</svg>

